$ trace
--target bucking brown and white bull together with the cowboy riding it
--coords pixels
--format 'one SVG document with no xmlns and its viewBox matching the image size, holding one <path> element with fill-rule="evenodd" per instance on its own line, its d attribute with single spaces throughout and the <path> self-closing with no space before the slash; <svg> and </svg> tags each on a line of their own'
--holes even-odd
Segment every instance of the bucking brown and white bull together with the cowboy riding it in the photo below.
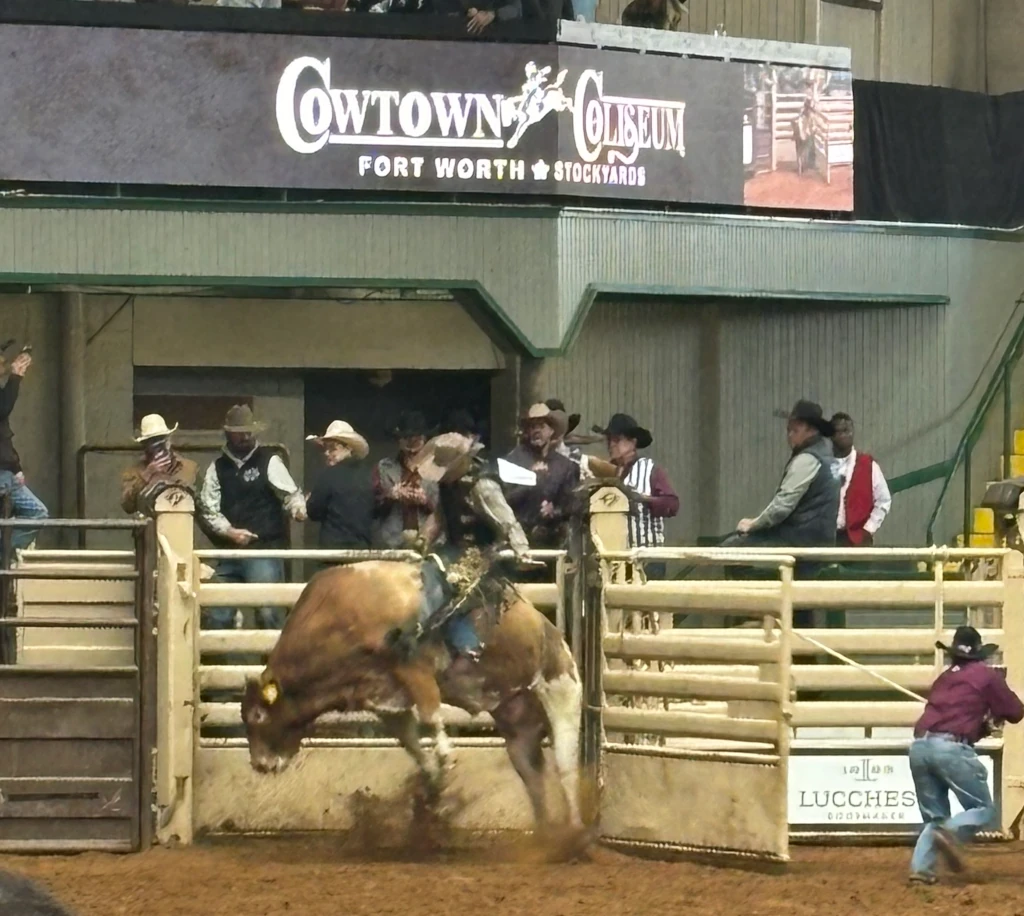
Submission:
<svg viewBox="0 0 1024 916">
<path fill-rule="evenodd" d="M 581 831 L 580 675 L 557 628 L 502 573 L 501 548 L 524 563 L 528 546 L 505 500 L 503 469 L 480 448 L 447 433 L 416 461 L 421 478 L 439 484 L 446 535 L 422 566 L 353 563 L 309 580 L 266 668 L 246 684 L 251 762 L 280 773 L 317 716 L 371 710 L 436 798 L 451 758 L 447 703 L 490 713 L 539 829 L 548 826 L 542 742 L 550 738 L 568 826 Z M 432 744 L 421 744 L 421 726 Z"/>
</svg>

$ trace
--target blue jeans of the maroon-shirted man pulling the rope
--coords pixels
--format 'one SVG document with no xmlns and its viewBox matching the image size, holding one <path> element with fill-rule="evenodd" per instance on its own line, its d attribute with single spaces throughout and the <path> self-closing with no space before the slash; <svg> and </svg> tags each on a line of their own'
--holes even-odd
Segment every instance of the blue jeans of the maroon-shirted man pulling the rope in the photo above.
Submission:
<svg viewBox="0 0 1024 916">
<path fill-rule="evenodd" d="M 910 872 L 934 875 L 936 828 L 943 827 L 961 842 L 968 842 L 995 817 L 988 773 L 973 747 L 940 736 L 919 738 L 910 745 L 910 773 L 925 821 Z M 949 817 L 950 792 L 964 808 L 954 818 Z"/>
</svg>

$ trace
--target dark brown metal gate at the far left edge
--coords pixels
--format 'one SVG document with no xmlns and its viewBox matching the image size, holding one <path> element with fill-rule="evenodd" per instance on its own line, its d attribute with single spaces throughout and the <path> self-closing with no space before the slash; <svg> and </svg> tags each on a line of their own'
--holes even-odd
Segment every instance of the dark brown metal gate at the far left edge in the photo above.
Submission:
<svg viewBox="0 0 1024 916">
<path fill-rule="evenodd" d="M 152 836 L 154 574 L 145 521 L 0 521 L 0 850 L 135 852 Z M 26 551 L 16 528 L 121 529 L 132 550 Z"/>
</svg>

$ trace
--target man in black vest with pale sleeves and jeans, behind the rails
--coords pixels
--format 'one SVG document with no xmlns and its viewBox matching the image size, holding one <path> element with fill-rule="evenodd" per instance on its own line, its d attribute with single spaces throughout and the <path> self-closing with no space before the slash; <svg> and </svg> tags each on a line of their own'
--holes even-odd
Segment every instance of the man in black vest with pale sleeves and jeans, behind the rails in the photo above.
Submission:
<svg viewBox="0 0 1024 916">
<path fill-rule="evenodd" d="M 217 548 L 284 548 L 288 544 L 285 511 L 297 522 L 306 520 L 302 491 L 295 485 L 274 449 L 260 445 L 252 408 L 237 404 L 224 421 L 226 444 L 206 470 L 199 496 L 204 529 Z M 284 509 L 284 511 L 283 511 Z M 281 582 L 285 563 L 279 559 L 220 560 L 215 581 Z M 229 629 L 234 608 L 208 608 L 203 612 L 207 629 Z M 284 608 L 257 608 L 256 625 L 280 629 Z"/>
</svg>

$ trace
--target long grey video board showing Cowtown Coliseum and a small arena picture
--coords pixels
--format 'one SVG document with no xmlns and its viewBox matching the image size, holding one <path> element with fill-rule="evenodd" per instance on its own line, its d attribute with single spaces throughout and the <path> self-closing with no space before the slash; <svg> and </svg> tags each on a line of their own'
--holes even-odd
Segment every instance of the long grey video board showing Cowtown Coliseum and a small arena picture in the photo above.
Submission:
<svg viewBox="0 0 1024 916">
<path fill-rule="evenodd" d="M 555 45 L 0 26 L 0 178 L 849 210 L 851 87 Z"/>
</svg>

